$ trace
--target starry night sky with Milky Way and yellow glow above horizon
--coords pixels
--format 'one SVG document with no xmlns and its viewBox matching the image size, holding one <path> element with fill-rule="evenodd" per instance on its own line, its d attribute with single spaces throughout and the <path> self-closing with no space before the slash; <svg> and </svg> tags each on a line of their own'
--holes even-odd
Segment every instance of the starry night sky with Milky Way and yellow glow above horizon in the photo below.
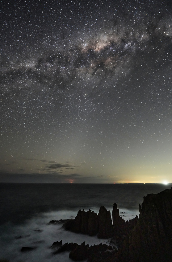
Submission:
<svg viewBox="0 0 172 262">
<path fill-rule="evenodd" d="M 0 182 L 172 182 L 171 1 L 2 1 Z"/>
</svg>

